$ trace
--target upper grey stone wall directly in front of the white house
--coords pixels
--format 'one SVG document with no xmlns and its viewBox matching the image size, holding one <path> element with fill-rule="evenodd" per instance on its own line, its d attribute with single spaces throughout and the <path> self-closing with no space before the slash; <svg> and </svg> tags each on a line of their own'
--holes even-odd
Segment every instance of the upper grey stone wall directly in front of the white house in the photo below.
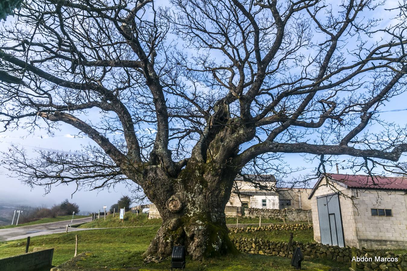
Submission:
<svg viewBox="0 0 407 271">
<path fill-rule="evenodd" d="M 249 217 L 274 218 L 280 221 L 297 222 L 297 221 L 312 221 L 311 210 L 295 210 L 286 209 L 263 209 L 263 208 L 247 208 L 245 215 Z"/>
</svg>

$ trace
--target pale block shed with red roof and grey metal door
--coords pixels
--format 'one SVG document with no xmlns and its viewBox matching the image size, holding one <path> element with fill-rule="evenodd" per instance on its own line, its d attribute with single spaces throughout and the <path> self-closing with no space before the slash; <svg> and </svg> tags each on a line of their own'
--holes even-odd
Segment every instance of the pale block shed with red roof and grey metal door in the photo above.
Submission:
<svg viewBox="0 0 407 271">
<path fill-rule="evenodd" d="M 375 249 L 407 244 L 407 178 L 328 174 L 309 199 L 319 243 Z"/>
</svg>

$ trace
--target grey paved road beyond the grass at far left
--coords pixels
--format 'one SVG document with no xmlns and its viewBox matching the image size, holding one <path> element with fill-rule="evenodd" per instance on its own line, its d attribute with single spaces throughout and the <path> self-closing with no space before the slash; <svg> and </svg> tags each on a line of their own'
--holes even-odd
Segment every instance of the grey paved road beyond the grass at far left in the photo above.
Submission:
<svg viewBox="0 0 407 271">
<path fill-rule="evenodd" d="M 81 224 L 92 221 L 92 217 L 85 217 L 74 219 L 72 225 Z M 0 241 L 10 241 L 21 238 L 27 238 L 27 236 L 38 236 L 45 234 L 53 234 L 59 232 L 65 232 L 66 225 L 71 224 L 71 220 L 63 220 L 58 222 L 43 223 L 37 225 L 28 225 L 22 227 L 0 229 Z M 70 228 L 68 231 L 84 230 L 77 228 Z"/>
</svg>

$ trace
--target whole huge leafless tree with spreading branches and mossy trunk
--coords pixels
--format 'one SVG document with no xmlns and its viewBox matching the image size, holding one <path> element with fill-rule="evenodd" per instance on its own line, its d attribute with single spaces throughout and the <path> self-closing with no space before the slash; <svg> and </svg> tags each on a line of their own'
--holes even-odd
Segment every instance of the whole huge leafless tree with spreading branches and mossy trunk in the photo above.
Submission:
<svg viewBox="0 0 407 271">
<path fill-rule="evenodd" d="M 406 9 L 381 4 L 27 1 L 0 34 L 4 128 L 63 122 L 95 144 L 14 147 L 8 168 L 31 185 L 138 184 L 163 219 L 146 255 L 235 252 L 223 210 L 247 165 L 305 153 L 404 172 L 405 129 L 378 110 L 406 90 Z"/>
</svg>

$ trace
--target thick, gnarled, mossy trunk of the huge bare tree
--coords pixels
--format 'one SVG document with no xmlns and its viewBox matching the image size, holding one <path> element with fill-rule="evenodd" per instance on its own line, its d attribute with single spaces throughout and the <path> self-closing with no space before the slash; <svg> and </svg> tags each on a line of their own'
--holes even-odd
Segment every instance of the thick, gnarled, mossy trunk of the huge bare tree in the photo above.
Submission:
<svg viewBox="0 0 407 271">
<path fill-rule="evenodd" d="M 144 190 L 163 223 L 145 256 L 169 256 L 174 245 L 185 245 L 194 260 L 237 253 L 224 212 L 235 174 L 225 172 L 208 164 L 188 164 L 178 178 L 160 170 L 151 174 L 155 188 Z"/>
</svg>

